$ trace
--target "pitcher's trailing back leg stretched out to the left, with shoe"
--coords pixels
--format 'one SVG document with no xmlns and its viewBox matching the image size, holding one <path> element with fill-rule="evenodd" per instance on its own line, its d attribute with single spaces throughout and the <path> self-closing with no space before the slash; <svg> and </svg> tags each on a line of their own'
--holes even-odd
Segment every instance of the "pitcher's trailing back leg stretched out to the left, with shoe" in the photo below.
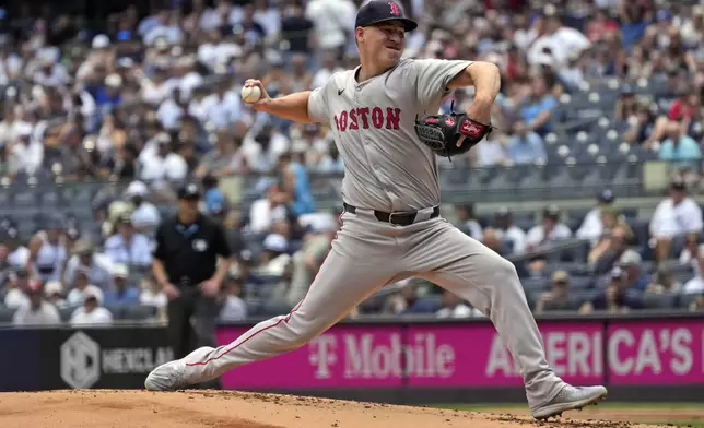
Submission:
<svg viewBox="0 0 704 428">
<path fill-rule="evenodd" d="M 399 265 L 396 240 L 375 234 L 374 224 L 344 219 L 308 293 L 289 314 L 260 322 L 228 345 L 201 347 L 157 367 L 146 378 L 146 389 L 165 391 L 202 383 L 237 366 L 294 350 L 389 283 Z"/>
</svg>

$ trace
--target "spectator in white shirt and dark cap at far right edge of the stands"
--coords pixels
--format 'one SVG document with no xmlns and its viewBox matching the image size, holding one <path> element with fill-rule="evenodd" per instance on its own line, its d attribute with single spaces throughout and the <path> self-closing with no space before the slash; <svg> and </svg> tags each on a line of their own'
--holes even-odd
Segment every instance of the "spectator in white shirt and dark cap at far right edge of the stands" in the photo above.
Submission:
<svg viewBox="0 0 704 428">
<path fill-rule="evenodd" d="M 654 239 L 655 260 L 670 257 L 672 238 L 702 231 L 702 209 L 687 197 L 687 185 L 677 177 L 669 188 L 669 198 L 660 202 L 650 219 L 650 236 Z"/>
</svg>

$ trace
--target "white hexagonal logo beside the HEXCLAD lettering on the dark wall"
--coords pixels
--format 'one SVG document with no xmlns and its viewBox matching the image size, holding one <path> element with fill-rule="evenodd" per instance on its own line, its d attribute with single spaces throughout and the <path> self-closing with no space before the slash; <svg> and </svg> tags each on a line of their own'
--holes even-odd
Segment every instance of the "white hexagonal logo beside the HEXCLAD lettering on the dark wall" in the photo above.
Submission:
<svg viewBox="0 0 704 428">
<path fill-rule="evenodd" d="M 91 388 L 101 378 L 101 347 L 77 332 L 61 345 L 61 379 L 72 388 Z"/>
</svg>

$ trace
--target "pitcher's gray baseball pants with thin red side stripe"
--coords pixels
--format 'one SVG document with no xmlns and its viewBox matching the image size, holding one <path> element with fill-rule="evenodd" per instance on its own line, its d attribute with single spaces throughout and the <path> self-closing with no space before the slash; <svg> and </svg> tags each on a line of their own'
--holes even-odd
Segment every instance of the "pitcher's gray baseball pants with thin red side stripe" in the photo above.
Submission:
<svg viewBox="0 0 704 428">
<path fill-rule="evenodd" d="M 528 404 L 552 400 L 563 382 L 545 360 L 516 269 L 445 218 L 430 218 L 431 212 L 419 212 L 410 226 L 379 222 L 367 210 L 343 213 L 332 249 L 301 302 L 228 345 L 186 357 L 188 379 L 204 382 L 300 348 L 379 288 L 414 276 L 448 289 L 488 316 L 518 364 Z"/>
</svg>

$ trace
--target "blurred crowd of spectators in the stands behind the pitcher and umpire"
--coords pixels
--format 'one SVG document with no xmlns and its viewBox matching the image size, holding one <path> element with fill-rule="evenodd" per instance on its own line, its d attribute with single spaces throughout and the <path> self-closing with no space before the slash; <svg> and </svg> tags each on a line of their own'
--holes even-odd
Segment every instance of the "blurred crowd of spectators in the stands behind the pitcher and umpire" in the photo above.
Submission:
<svg viewBox="0 0 704 428">
<path fill-rule="evenodd" d="M 221 318 L 288 311 L 338 228 L 344 166 L 326 124 L 255 112 L 239 88 L 258 78 L 275 97 L 355 67 L 360 1 L 79 3 L 0 9 L 0 321 L 163 320 L 152 237 L 186 179 L 238 254 Z M 421 23 L 406 57 L 502 70 L 500 131 L 439 159 L 444 215 L 515 261 L 536 312 L 704 310 L 704 5 L 400 3 Z M 471 99 L 456 91 L 442 108 Z M 658 162 L 656 205 L 621 203 Z M 502 189 L 597 201 L 477 210 Z M 351 316 L 379 313 L 482 317 L 415 278 Z"/>
</svg>

